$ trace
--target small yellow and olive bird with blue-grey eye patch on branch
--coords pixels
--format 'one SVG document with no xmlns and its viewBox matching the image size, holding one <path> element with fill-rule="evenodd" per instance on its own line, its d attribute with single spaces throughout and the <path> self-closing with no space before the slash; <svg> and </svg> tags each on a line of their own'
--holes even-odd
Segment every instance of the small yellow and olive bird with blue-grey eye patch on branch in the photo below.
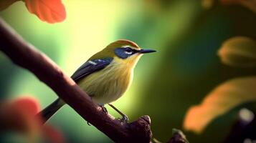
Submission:
<svg viewBox="0 0 256 143">
<path fill-rule="evenodd" d="M 108 104 L 122 116 L 121 122 L 128 122 L 128 117 L 111 103 L 119 99 L 130 87 L 134 67 L 141 56 L 155 51 L 141 49 L 133 41 L 119 39 L 91 56 L 72 74 L 71 78 L 90 96 L 93 102 L 103 108 L 104 112 L 108 113 L 104 107 Z M 38 116 L 41 116 L 45 123 L 63 105 L 65 102 L 58 98 L 39 112 Z"/>
</svg>

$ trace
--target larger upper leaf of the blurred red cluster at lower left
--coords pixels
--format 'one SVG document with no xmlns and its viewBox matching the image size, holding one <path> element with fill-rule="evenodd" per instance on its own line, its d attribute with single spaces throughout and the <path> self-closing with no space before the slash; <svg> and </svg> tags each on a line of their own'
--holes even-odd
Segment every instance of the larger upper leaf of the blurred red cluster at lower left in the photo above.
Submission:
<svg viewBox="0 0 256 143">
<path fill-rule="evenodd" d="M 15 99 L 11 102 L 1 102 L 0 131 L 19 131 L 30 139 L 36 137 L 40 121 L 34 119 L 39 110 L 39 103 L 32 97 Z"/>
</svg>

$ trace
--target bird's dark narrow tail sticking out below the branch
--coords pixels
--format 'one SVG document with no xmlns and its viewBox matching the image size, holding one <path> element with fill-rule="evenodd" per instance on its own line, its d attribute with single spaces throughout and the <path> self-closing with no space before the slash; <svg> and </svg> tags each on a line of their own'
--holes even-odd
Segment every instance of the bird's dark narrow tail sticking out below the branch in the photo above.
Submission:
<svg viewBox="0 0 256 143">
<path fill-rule="evenodd" d="M 39 112 L 36 116 L 42 117 L 42 123 L 44 124 L 64 104 L 65 104 L 65 102 L 62 99 L 58 98 L 54 102 L 52 102 L 52 104 L 49 104 L 46 108 L 44 108 L 41 112 Z"/>
</svg>

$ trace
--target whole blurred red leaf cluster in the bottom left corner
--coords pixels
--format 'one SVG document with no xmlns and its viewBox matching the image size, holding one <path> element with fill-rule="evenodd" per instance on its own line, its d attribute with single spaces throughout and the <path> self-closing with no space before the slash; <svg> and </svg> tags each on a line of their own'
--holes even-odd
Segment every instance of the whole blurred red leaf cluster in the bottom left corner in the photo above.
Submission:
<svg viewBox="0 0 256 143">
<path fill-rule="evenodd" d="M 28 142 L 65 142 L 61 132 L 42 124 L 39 102 L 32 97 L 22 97 L 11 102 L 0 103 L 0 132 L 16 131 L 24 135 Z"/>
</svg>

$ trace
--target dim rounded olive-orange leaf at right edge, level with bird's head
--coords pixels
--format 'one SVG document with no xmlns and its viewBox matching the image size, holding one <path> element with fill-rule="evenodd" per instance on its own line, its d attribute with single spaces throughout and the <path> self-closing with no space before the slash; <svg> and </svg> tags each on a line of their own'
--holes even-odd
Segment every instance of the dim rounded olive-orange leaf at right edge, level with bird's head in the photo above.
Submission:
<svg viewBox="0 0 256 143">
<path fill-rule="evenodd" d="M 222 62 L 229 66 L 256 66 L 256 41 L 244 36 L 236 36 L 224 41 L 218 51 Z"/>
</svg>

